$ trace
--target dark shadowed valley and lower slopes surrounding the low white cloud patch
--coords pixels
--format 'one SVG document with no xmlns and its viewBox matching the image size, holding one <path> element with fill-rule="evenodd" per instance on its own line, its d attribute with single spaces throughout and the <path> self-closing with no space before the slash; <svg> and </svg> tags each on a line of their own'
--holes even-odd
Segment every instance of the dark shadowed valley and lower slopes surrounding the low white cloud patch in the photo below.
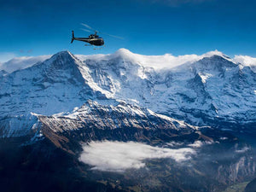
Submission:
<svg viewBox="0 0 256 192">
<path fill-rule="evenodd" d="M 110 129 L 96 125 L 80 124 L 78 130 L 67 131 L 77 126 L 75 121 L 63 118 L 40 117 L 40 131 L 44 139 L 29 145 L 21 137 L 10 142 L 1 142 L 0 177 L 3 191 L 221 191 L 227 185 L 252 177 L 255 172 L 252 155 L 235 154 L 236 137 L 208 128 L 195 131 L 123 127 Z M 162 122 L 163 123 L 163 122 Z M 164 123 L 163 123 L 164 124 Z M 58 126 L 56 126 L 58 125 Z M 66 130 L 56 131 L 56 128 Z M 219 137 L 228 137 L 224 142 Z M 82 151 L 80 142 L 135 141 L 163 146 L 168 142 L 195 143 L 216 141 L 198 151 L 187 165 L 172 160 L 147 160 L 147 167 L 128 170 L 125 173 L 92 171 L 90 166 L 79 161 Z M 5 141 L 5 145 L 4 144 Z M 218 143 L 219 142 L 219 143 Z M 10 146 L 9 143 L 14 143 Z M 241 146 L 242 147 L 242 146 Z M 255 162 L 255 161 L 254 161 Z M 15 177 L 14 175 L 15 174 Z M 113 185 L 114 183 L 114 185 Z"/>
</svg>

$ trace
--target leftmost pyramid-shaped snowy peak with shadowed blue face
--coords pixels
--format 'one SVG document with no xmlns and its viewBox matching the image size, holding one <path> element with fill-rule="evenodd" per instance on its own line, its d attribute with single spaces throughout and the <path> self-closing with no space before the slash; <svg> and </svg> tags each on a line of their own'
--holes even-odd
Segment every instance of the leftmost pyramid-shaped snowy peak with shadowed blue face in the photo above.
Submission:
<svg viewBox="0 0 256 192">
<path fill-rule="evenodd" d="M 81 61 L 64 51 L 0 80 L 1 115 L 54 114 L 81 106 L 93 92 L 85 84 Z M 13 108 L 13 109 L 11 109 Z"/>
</svg>

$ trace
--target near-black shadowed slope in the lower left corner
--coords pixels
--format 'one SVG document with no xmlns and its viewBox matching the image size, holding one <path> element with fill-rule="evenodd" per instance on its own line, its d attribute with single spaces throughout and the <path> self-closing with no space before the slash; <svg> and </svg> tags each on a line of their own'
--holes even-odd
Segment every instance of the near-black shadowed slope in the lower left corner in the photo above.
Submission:
<svg viewBox="0 0 256 192">
<path fill-rule="evenodd" d="M 3 192 L 123 191 L 86 176 L 77 159 L 47 141 L 23 147 L 1 142 L 0 155 Z"/>
</svg>

